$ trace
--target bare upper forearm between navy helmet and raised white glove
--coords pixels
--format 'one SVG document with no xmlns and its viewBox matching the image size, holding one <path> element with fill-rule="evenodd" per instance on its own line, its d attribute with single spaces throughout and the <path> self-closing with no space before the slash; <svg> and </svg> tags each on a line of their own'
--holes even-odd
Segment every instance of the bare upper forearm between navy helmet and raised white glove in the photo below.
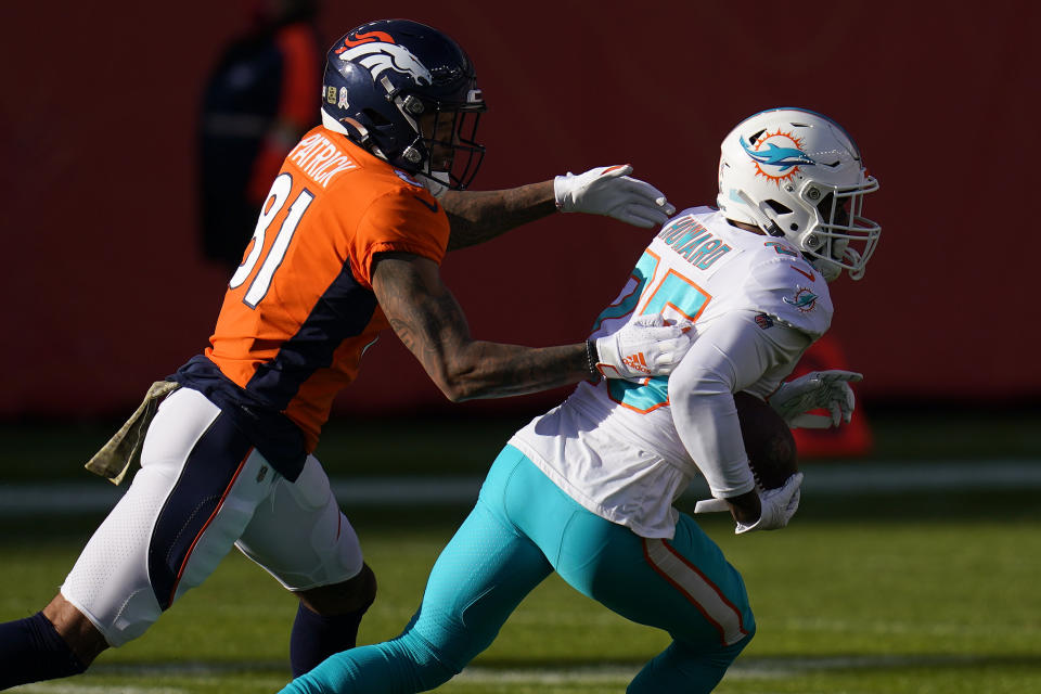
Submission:
<svg viewBox="0 0 1041 694">
<path fill-rule="evenodd" d="M 440 203 L 452 228 L 449 250 L 490 241 L 556 211 L 552 180 L 502 191 L 448 191 Z"/>
</svg>

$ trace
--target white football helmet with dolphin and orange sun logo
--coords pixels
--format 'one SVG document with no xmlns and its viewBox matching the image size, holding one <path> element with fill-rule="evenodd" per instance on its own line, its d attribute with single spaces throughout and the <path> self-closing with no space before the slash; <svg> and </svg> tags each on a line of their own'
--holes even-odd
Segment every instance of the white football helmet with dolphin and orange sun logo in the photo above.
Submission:
<svg viewBox="0 0 1041 694">
<path fill-rule="evenodd" d="M 843 270 L 864 275 L 882 228 L 861 211 L 878 181 L 838 124 L 773 108 L 743 120 L 720 149 L 717 203 L 728 219 L 785 236 L 828 282 Z"/>
</svg>

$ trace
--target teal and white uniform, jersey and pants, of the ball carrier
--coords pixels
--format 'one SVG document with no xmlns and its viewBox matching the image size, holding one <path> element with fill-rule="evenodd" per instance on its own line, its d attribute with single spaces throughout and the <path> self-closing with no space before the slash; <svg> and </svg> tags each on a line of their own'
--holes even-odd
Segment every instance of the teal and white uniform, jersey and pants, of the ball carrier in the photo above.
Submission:
<svg viewBox="0 0 1041 694">
<path fill-rule="evenodd" d="M 827 285 L 783 239 L 687 209 L 647 246 L 594 336 L 635 317 L 693 322 L 669 377 L 581 384 L 517 432 L 391 641 L 335 655 L 285 693 L 421 692 L 462 670 L 539 582 L 576 590 L 673 639 L 630 693 L 709 692 L 755 632 L 738 571 L 672 502 L 754 486 L 732 394 L 762 397 L 831 322 Z"/>
</svg>

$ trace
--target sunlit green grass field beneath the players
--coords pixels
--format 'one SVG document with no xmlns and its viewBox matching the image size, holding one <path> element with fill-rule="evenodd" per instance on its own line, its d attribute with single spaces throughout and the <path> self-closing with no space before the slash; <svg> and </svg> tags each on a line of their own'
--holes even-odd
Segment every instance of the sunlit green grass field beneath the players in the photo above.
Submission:
<svg viewBox="0 0 1041 694">
<path fill-rule="evenodd" d="M 16 437 L 4 434 L 16 447 Z M 459 436 L 460 429 L 439 427 L 427 440 L 434 441 L 435 452 L 444 444 L 448 454 L 458 447 Z M 891 440 L 898 449 L 900 436 L 879 432 L 879 441 Z M 958 430 L 952 436 L 976 442 L 978 436 L 989 436 L 994 442 L 986 448 L 989 452 L 1041 460 L 1033 450 L 1010 452 L 995 442 L 1033 445 L 1021 432 L 977 432 L 974 437 Z M 471 462 L 458 463 L 454 472 L 479 468 L 503 438 L 489 430 L 470 439 L 473 445 L 457 460 Z M 78 459 L 72 466 L 55 462 L 68 454 L 63 449 L 68 439 L 75 435 L 56 444 L 61 450 L 53 460 L 38 457 L 44 462 L 37 473 L 61 470 L 64 475 L 75 470 Z M 928 451 L 918 439 L 905 444 L 909 450 Z M 326 461 L 346 452 L 335 446 L 322 452 Z M 356 457 L 358 451 L 368 457 L 380 450 L 370 442 L 348 448 Z M 975 454 L 964 444 L 959 452 L 962 459 Z M 812 466 L 807 474 L 812 474 Z M 79 477 L 75 472 L 69 475 Z M 841 496 L 804 497 L 789 528 L 741 538 L 721 516 L 706 519 L 703 526 L 744 574 L 759 625 L 755 641 L 717 691 L 1041 692 L 1037 492 L 881 496 L 850 489 Z M 400 631 L 438 550 L 465 512 L 439 506 L 352 514 L 381 583 L 380 597 L 362 625 L 362 641 Z M 98 519 L 0 517 L 0 620 L 27 616 L 53 595 Z M 87 676 L 15 691 L 277 692 L 288 679 L 286 652 L 295 605 L 267 574 L 235 554 L 145 638 L 103 654 Z M 664 634 L 616 617 L 551 577 L 522 605 L 492 647 L 439 691 L 624 692 L 642 663 L 666 643 Z"/>
</svg>

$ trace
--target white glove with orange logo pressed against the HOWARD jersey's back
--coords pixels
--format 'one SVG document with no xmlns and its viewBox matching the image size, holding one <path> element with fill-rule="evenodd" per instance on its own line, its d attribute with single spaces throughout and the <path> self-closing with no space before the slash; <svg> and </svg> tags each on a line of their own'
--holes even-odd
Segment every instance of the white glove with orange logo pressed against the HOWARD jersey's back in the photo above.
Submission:
<svg viewBox="0 0 1041 694">
<path fill-rule="evenodd" d="M 646 378 L 672 373 L 691 348 L 687 322 L 665 323 L 660 313 L 641 316 L 621 330 L 594 340 L 596 369 L 607 378 Z"/>
</svg>

